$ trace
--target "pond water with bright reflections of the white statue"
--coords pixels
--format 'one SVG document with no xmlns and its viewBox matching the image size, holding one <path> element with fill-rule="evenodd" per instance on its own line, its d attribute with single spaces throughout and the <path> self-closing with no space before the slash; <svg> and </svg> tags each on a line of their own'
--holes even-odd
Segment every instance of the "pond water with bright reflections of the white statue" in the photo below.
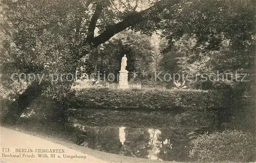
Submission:
<svg viewBox="0 0 256 163">
<path fill-rule="evenodd" d="M 79 143 L 84 147 L 139 158 L 190 160 L 186 129 L 74 126 L 86 132 Z"/>
</svg>

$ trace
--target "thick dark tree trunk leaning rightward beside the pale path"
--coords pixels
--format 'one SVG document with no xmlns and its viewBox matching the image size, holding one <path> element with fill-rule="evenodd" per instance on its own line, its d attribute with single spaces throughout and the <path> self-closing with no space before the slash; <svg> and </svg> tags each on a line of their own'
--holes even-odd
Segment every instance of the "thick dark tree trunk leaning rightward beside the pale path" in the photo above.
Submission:
<svg viewBox="0 0 256 163">
<path fill-rule="evenodd" d="M 14 102 L 10 103 L 8 110 L 3 114 L 2 123 L 15 124 L 28 105 L 41 95 L 45 85 L 46 83 L 39 85 L 38 82 L 33 82 L 24 93 L 20 94 Z"/>
</svg>

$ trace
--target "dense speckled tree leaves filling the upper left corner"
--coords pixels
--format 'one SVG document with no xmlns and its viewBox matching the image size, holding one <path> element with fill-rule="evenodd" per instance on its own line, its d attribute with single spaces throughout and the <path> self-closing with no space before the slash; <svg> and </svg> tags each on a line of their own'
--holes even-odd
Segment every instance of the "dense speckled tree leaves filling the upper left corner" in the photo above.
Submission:
<svg viewBox="0 0 256 163">
<path fill-rule="evenodd" d="M 1 3 L 4 9 L 2 27 L 8 35 L 1 48 L 4 74 L 45 74 L 42 79 L 49 82 L 50 74 L 73 73 L 76 67 L 73 61 L 86 50 L 86 47 L 77 50 L 84 36 L 77 38 L 74 31 L 79 17 L 89 18 L 81 1 Z M 66 92 L 69 85 L 67 81 L 61 85 L 56 82 L 48 87 L 46 94 L 56 97 L 56 92 Z"/>
</svg>

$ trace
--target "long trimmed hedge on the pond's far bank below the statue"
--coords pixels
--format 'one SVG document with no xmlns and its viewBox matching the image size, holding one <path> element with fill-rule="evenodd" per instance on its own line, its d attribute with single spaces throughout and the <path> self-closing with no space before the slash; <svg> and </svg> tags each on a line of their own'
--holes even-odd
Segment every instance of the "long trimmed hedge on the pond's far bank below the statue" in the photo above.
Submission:
<svg viewBox="0 0 256 163">
<path fill-rule="evenodd" d="M 68 97 L 70 106 L 114 110 L 207 110 L 216 103 L 215 93 L 182 90 L 83 89 Z"/>
</svg>

